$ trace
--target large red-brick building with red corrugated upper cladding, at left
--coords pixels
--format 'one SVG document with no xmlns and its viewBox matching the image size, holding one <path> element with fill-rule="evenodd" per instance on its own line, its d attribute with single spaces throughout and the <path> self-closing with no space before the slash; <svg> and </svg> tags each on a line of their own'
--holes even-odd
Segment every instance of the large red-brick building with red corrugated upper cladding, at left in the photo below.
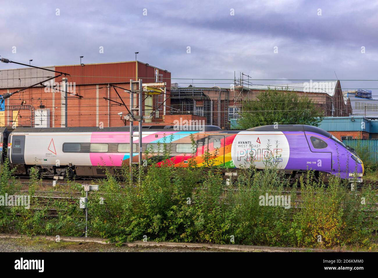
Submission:
<svg viewBox="0 0 378 278">
<path fill-rule="evenodd" d="M 130 79 L 142 79 L 143 84 L 160 84 L 156 88 L 160 88 L 161 93 L 144 93 L 144 114 L 149 115 L 156 110 L 153 118 L 146 120 L 146 124 L 162 123 L 164 114 L 168 114 L 166 107 L 170 105 L 167 96 L 170 95 L 171 73 L 167 70 L 139 61 L 50 66 L 46 69 L 69 74 L 67 75 L 70 93 L 67 97 L 68 127 L 124 125 L 118 113 L 127 114 L 122 100 L 130 109 L 130 94 L 124 91 L 130 89 Z M 0 94 L 19 91 L 57 75 L 36 68 L 2 70 Z M 44 86 L 37 85 L 5 99 L 0 110 L 0 126 L 64 127 L 65 93 L 61 91 L 63 77 L 56 77 L 43 83 Z M 134 89 L 138 90 L 138 84 Z M 137 105 L 136 99 L 134 103 Z"/>
</svg>

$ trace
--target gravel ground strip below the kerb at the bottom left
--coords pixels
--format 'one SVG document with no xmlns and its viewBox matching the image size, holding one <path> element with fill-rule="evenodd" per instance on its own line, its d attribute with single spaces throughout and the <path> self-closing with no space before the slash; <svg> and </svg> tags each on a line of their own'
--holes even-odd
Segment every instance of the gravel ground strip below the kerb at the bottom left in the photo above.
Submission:
<svg viewBox="0 0 378 278">
<path fill-rule="evenodd" d="M 45 239 L 0 238 L 0 252 L 235 252 L 185 247 L 116 247 L 95 242 L 54 242 Z"/>
</svg>

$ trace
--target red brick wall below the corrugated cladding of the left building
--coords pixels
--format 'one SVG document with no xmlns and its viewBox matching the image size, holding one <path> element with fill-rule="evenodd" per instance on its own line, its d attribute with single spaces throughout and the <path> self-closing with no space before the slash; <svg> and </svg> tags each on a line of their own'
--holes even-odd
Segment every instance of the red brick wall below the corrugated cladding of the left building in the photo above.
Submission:
<svg viewBox="0 0 378 278">
<path fill-rule="evenodd" d="M 117 83 L 113 85 L 125 89 L 130 88 L 130 83 Z M 126 115 L 128 113 L 127 109 L 123 105 L 104 99 L 105 97 L 122 103 L 116 91 L 113 88 L 108 90 L 107 86 L 108 84 L 76 85 L 75 91 L 73 92 L 74 95 L 68 94 L 68 127 L 96 127 L 101 124 L 103 127 L 124 125 L 118 113 L 122 112 L 123 115 Z M 19 89 L 0 89 L 0 94 L 17 90 Z M 130 109 L 130 94 L 120 88 L 116 88 L 116 90 Z M 80 99 L 77 95 L 82 96 L 82 98 Z M 154 109 L 158 106 L 156 97 L 156 94 L 153 95 Z M 61 127 L 62 124 L 64 124 L 64 93 L 50 89 L 46 92 L 44 87 L 34 87 L 24 92 L 14 94 L 5 100 L 6 109 L 3 116 L 4 119 L 0 119 L 0 126 L 12 126 L 13 113 L 18 113 L 19 107 L 17 106 L 19 106 L 22 101 L 24 101 L 23 107 L 19 112 L 19 116 L 17 116 L 18 126 L 30 127 L 33 125 L 35 110 L 40 109 L 40 105 L 44 106 L 43 109 L 50 109 L 50 127 Z M 135 98 L 134 104 L 136 104 L 137 101 L 138 100 Z M 27 108 L 28 105 L 32 107 L 32 110 Z M 143 102 L 143 109 L 144 108 Z M 151 110 L 148 112 L 150 113 Z M 163 121 L 163 109 L 160 110 L 159 116 L 160 119 L 154 117 L 152 124 L 154 122 L 158 123 Z"/>
</svg>

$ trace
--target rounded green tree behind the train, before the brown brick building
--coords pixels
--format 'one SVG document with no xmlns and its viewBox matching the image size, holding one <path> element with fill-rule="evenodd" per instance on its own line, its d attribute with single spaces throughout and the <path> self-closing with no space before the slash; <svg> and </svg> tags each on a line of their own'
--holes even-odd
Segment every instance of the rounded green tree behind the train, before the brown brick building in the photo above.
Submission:
<svg viewBox="0 0 378 278">
<path fill-rule="evenodd" d="M 324 117 L 324 111 L 305 96 L 286 90 L 268 89 L 257 95 L 256 100 L 243 102 L 240 128 L 248 129 L 260 125 L 314 125 Z"/>
</svg>

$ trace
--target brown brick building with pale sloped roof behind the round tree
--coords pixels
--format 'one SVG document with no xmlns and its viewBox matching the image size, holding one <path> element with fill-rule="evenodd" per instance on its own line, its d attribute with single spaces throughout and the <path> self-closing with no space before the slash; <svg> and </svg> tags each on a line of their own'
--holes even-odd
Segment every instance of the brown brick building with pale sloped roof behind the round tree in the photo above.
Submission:
<svg viewBox="0 0 378 278">
<path fill-rule="evenodd" d="M 171 87 L 172 114 L 197 114 L 206 117 L 208 124 L 221 128 L 232 128 L 230 121 L 240 117 L 242 102 L 257 99 L 258 94 L 268 89 L 293 91 L 300 97 L 308 97 L 324 116 L 349 116 L 352 113 L 350 101 L 344 101 L 339 80 L 212 88 L 180 88 L 175 84 Z"/>
</svg>

